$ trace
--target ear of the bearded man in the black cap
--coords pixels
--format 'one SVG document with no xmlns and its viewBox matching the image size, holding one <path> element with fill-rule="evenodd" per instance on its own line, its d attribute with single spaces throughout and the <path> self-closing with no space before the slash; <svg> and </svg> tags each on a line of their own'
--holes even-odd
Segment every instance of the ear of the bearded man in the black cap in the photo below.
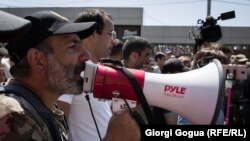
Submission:
<svg viewBox="0 0 250 141">
<path fill-rule="evenodd" d="M 35 48 L 31 48 L 27 52 L 27 60 L 33 70 L 40 73 L 45 73 L 47 59 L 44 52 Z"/>
</svg>

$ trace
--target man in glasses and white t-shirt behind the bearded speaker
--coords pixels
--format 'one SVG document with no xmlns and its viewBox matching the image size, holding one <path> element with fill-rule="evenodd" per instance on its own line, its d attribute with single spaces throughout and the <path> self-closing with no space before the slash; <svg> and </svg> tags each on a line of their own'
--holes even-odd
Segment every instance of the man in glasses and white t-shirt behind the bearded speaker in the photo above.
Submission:
<svg viewBox="0 0 250 141">
<path fill-rule="evenodd" d="M 111 15 L 99 9 L 87 9 L 79 14 L 76 23 L 96 22 L 96 29 L 89 37 L 82 40 L 83 46 L 91 55 L 91 63 L 98 63 L 101 58 L 109 58 L 115 44 L 116 33 Z M 112 116 L 111 102 L 100 101 L 86 93 L 81 95 L 65 94 L 58 104 L 68 115 L 70 139 L 72 141 L 103 139 Z M 91 107 L 89 106 L 89 103 Z M 92 108 L 92 109 L 90 109 Z M 91 113 L 93 110 L 93 115 Z"/>
</svg>

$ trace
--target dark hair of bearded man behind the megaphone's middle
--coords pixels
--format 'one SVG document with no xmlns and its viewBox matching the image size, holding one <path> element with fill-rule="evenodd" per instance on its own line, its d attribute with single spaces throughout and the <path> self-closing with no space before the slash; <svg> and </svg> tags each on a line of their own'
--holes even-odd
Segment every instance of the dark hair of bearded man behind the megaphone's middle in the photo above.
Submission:
<svg viewBox="0 0 250 141">
<path fill-rule="evenodd" d="M 146 48 L 152 48 L 148 40 L 139 36 L 130 37 L 125 41 L 123 45 L 123 58 L 128 59 L 132 52 L 137 52 L 139 55 L 141 55 L 141 52 L 144 51 Z"/>
</svg>

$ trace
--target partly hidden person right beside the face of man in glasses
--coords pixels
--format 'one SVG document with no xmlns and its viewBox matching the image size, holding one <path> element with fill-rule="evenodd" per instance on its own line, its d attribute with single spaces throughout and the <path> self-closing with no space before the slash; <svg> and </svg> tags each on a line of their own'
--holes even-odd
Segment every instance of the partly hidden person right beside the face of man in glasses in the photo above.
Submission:
<svg viewBox="0 0 250 141">
<path fill-rule="evenodd" d="M 109 59 L 122 60 L 122 47 L 123 47 L 123 42 L 119 39 L 116 39 L 115 45 L 111 49 Z"/>
</svg>

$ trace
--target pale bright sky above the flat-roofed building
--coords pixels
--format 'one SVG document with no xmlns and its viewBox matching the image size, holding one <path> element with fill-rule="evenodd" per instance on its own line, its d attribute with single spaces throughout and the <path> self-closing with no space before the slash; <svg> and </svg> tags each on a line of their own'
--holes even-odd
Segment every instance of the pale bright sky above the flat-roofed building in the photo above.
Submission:
<svg viewBox="0 0 250 141">
<path fill-rule="evenodd" d="M 145 26 L 196 26 L 207 17 L 207 0 L 0 0 L 0 7 L 143 7 Z M 211 16 L 235 11 L 220 26 L 250 27 L 250 0 L 211 0 Z"/>
</svg>

